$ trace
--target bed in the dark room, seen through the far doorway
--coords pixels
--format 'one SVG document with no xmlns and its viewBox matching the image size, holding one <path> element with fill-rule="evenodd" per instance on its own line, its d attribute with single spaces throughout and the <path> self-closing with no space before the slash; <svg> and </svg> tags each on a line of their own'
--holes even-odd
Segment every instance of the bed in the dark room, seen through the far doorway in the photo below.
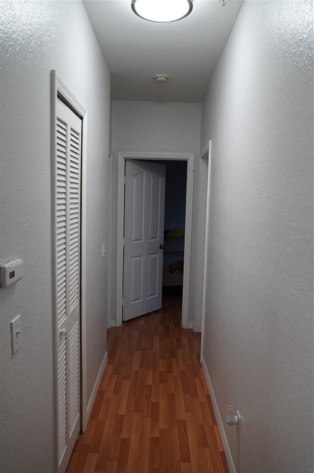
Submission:
<svg viewBox="0 0 314 473">
<path fill-rule="evenodd" d="M 165 230 L 162 286 L 183 286 L 184 229 Z"/>
</svg>

